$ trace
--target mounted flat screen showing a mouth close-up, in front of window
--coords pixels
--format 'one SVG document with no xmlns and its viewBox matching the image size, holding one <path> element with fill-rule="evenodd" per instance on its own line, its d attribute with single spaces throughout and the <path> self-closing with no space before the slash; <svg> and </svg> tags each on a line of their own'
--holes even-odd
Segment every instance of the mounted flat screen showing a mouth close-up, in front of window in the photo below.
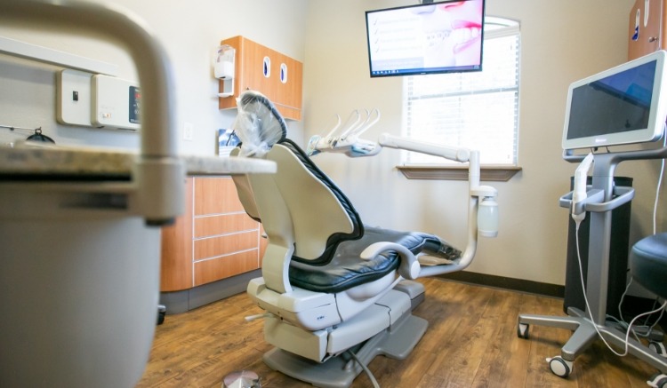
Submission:
<svg viewBox="0 0 667 388">
<path fill-rule="evenodd" d="M 485 0 L 366 12 L 371 77 L 482 69 Z"/>
</svg>

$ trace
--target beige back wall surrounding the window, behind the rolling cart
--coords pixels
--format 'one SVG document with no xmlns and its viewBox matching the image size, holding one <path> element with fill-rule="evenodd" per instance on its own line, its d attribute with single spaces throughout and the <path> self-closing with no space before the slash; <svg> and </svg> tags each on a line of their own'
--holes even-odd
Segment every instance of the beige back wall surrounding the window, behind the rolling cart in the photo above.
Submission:
<svg viewBox="0 0 667 388">
<path fill-rule="evenodd" d="M 306 137 L 327 131 L 354 108 L 378 107 L 382 120 L 367 137 L 400 134 L 402 80 L 368 76 L 366 10 L 416 0 L 310 0 L 306 41 Z M 560 138 L 569 83 L 625 61 L 627 24 L 633 0 L 487 0 L 486 14 L 520 21 L 520 141 L 523 171 L 499 190 L 501 230 L 482 238 L 470 271 L 563 284 L 567 210 L 559 196 L 569 191 L 575 165 L 561 157 Z M 384 150 L 369 159 L 318 155 L 371 225 L 419 229 L 464 247 L 466 183 L 407 180 L 395 166 L 399 154 Z M 637 163 L 637 162 L 632 162 Z M 618 170 L 635 186 L 646 185 L 632 207 L 632 238 L 647 233 L 647 207 L 655 187 L 656 164 Z M 641 168 L 644 168 L 641 166 Z M 646 182 L 644 182 L 646 181 Z M 638 191 L 639 191 L 638 187 Z M 648 193 L 647 193 L 648 192 Z M 650 203 L 649 203 L 650 202 Z"/>
</svg>

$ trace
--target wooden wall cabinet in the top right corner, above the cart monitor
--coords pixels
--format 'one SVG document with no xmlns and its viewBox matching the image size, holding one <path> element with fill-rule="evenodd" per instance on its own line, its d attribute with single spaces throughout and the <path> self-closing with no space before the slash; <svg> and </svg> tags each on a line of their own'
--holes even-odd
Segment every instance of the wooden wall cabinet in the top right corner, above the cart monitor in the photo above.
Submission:
<svg viewBox="0 0 667 388">
<path fill-rule="evenodd" d="M 628 60 L 667 48 L 664 0 L 637 0 L 628 20 Z"/>
</svg>

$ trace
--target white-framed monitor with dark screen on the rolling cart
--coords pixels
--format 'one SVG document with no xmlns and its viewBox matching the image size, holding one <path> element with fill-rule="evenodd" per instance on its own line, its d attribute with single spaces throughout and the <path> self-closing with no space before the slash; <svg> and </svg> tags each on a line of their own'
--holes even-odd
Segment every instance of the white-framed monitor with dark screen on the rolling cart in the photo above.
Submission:
<svg viewBox="0 0 667 388">
<path fill-rule="evenodd" d="M 667 115 L 665 51 L 572 83 L 567 92 L 563 149 L 660 139 Z"/>
</svg>

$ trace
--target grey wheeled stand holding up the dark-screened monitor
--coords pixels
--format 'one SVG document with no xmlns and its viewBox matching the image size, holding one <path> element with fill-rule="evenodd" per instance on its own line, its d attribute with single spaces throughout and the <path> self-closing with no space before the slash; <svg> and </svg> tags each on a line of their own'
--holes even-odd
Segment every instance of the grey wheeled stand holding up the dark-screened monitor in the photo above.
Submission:
<svg viewBox="0 0 667 388">
<path fill-rule="evenodd" d="M 563 158 L 568 162 L 581 162 L 583 155 L 575 155 L 573 150 L 566 150 Z M 551 372 L 567 377 L 572 372 L 575 358 L 585 351 L 599 336 L 608 344 L 621 349 L 625 347 L 625 333 L 607 324 L 607 276 L 609 273 L 609 247 L 611 246 L 612 210 L 630 202 L 634 197 L 631 187 L 614 186 L 615 168 L 620 162 L 631 160 L 667 158 L 667 147 L 651 150 L 625 151 L 618 153 L 595 154 L 592 185 L 587 187 L 588 197 L 584 210 L 591 218 L 590 244 L 588 256 L 588 276 L 586 279 L 586 297 L 588 309 L 582 311 L 575 307 L 567 309 L 567 317 L 533 314 L 518 315 L 518 337 L 528 338 L 529 325 L 542 325 L 559 329 L 570 329 L 574 333 L 561 348 L 558 356 L 547 359 Z M 560 198 L 559 205 L 570 209 L 572 192 Z M 634 338 L 628 340 L 628 352 L 640 360 L 667 374 L 667 359 L 652 350 L 650 346 L 639 343 Z"/>
</svg>

